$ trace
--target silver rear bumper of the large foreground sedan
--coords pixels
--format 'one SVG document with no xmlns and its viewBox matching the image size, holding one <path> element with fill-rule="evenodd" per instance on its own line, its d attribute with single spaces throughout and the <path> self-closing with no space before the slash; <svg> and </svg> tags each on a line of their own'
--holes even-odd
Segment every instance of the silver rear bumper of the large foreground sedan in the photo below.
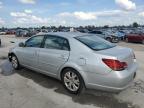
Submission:
<svg viewBox="0 0 144 108">
<path fill-rule="evenodd" d="M 119 92 L 128 88 L 136 76 L 138 65 L 134 63 L 129 69 L 111 71 L 108 75 L 89 73 L 87 88 Z"/>
</svg>

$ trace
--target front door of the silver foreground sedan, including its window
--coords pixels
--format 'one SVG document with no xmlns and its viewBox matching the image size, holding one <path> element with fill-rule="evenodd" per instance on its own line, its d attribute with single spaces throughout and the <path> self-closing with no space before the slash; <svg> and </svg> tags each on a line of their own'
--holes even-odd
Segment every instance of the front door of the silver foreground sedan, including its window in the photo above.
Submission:
<svg viewBox="0 0 144 108">
<path fill-rule="evenodd" d="M 19 47 L 17 56 L 22 65 L 30 68 L 38 67 L 38 52 L 44 36 L 34 36 L 25 42 L 25 47 Z"/>
</svg>

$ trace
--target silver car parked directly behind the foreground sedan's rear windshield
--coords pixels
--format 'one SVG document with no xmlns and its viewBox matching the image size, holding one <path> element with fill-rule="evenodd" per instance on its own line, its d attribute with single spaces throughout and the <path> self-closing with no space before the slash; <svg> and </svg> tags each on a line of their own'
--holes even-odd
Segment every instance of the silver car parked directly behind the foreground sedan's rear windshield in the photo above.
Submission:
<svg viewBox="0 0 144 108">
<path fill-rule="evenodd" d="M 96 34 L 98 37 L 104 38 L 105 40 L 113 43 L 119 42 L 118 37 L 110 34 L 110 32 L 102 32 L 102 31 L 90 31 L 90 34 Z"/>
</svg>

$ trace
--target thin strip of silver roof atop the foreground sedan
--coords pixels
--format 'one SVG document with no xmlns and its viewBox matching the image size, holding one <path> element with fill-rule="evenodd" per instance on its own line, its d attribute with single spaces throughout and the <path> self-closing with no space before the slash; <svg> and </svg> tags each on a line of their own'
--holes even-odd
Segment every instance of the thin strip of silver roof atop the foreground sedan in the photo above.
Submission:
<svg viewBox="0 0 144 108">
<path fill-rule="evenodd" d="M 38 35 L 54 35 L 64 38 L 73 38 L 78 36 L 90 35 L 88 33 L 80 33 L 80 32 L 49 32 L 49 33 L 41 33 Z"/>
</svg>

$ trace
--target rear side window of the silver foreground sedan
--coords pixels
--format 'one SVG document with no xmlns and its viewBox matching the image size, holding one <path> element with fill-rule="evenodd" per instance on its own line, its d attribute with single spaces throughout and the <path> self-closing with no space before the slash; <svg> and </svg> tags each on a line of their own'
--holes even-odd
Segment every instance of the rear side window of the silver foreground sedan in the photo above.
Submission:
<svg viewBox="0 0 144 108">
<path fill-rule="evenodd" d="M 44 43 L 44 48 L 66 51 L 70 50 L 68 40 L 58 36 L 47 36 Z"/>
</svg>

